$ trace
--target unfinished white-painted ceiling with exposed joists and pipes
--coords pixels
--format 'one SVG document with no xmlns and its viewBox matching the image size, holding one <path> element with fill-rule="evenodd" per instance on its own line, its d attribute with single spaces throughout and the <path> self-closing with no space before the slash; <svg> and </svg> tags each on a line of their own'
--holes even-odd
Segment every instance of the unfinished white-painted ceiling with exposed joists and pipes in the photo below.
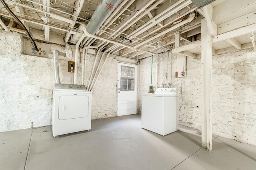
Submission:
<svg viewBox="0 0 256 170">
<path fill-rule="evenodd" d="M 64 42 L 65 37 L 70 43 L 72 42 L 70 41 L 72 36 L 84 32 L 78 27 L 80 24 L 86 25 L 90 21 L 100 0 L 5 0 L 5 2 L 14 14 L 21 21 L 24 21 L 35 39 L 65 44 L 67 43 Z M 82 4 L 81 9 L 76 6 L 79 2 Z M 102 51 L 110 51 L 112 47 L 115 47 L 110 53 L 140 59 L 152 55 L 145 53 L 145 51 L 162 53 L 172 50 L 176 33 L 181 35 L 180 46 L 201 39 L 200 25 L 201 19 L 204 18 L 204 12 L 202 9 L 198 9 L 190 0 L 123 0 L 121 3 L 123 3 L 120 6 L 122 8 L 117 8 L 113 12 L 113 17 L 109 18 L 96 32 L 96 36 L 100 39 L 84 37 L 80 47 L 96 45 L 98 46 L 96 49 Z M 152 6 L 155 7 L 150 9 Z M 170 8 L 172 6 L 173 8 Z M 217 35 L 256 23 L 255 0 L 236 0 L 236 3 L 234 3 L 234 0 L 216 0 L 210 6 L 213 8 L 212 20 L 218 28 Z M 178 22 L 186 20 L 192 12 L 196 14 L 194 20 L 160 35 Z M 14 21 L 2 4 L 0 4 L 0 16 L 5 25 Z M 48 16 L 50 21 L 44 23 L 41 19 L 42 16 Z M 73 21 L 74 26 L 72 25 Z M 14 21 L 11 31 L 24 32 L 16 21 Z M 252 33 L 256 35 L 256 27 L 252 32 L 245 31 L 234 37 L 242 45 L 242 49 L 252 47 L 250 45 L 252 42 L 250 35 Z M 61 37 L 61 41 L 51 39 L 52 34 Z M 122 39 L 120 36 L 131 41 Z M 155 38 L 146 42 L 151 37 Z M 157 43 L 158 41 L 159 43 Z M 116 46 L 114 42 L 121 43 L 121 45 Z M 131 48 L 139 43 L 140 46 L 135 49 Z M 238 50 L 227 40 L 214 43 L 212 48 L 216 53 L 224 53 L 225 49 L 226 51 Z M 187 51 L 194 56 L 201 53 L 200 46 Z"/>
</svg>

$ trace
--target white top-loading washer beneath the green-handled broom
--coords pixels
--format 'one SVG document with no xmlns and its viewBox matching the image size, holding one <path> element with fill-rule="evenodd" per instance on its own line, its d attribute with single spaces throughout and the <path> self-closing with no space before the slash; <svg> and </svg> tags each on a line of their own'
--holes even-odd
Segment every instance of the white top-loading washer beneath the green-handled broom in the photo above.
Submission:
<svg viewBox="0 0 256 170">
<path fill-rule="evenodd" d="M 167 135 L 178 130 L 178 91 L 158 88 L 155 94 L 142 94 L 142 128 Z"/>
</svg>

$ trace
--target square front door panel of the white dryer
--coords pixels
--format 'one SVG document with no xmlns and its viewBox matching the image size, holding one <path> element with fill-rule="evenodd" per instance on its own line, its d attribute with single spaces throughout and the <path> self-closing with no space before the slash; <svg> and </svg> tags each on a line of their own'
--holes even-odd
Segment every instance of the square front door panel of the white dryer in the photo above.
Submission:
<svg viewBox="0 0 256 170">
<path fill-rule="evenodd" d="M 76 119 L 88 116 L 88 96 L 60 96 L 59 119 Z"/>
</svg>

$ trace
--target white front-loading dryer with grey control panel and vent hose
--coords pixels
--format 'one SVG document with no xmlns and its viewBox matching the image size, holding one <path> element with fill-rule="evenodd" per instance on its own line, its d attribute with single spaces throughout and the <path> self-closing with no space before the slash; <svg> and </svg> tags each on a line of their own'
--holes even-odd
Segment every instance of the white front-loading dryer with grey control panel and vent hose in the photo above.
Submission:
<svg viewBox="0 0 256 170">
<path fill-rule="evenodd" d="M 52 102 L 54 137 L 91 129 L 92 92 L 84 85 L 54 84 Z"/>
</svg>

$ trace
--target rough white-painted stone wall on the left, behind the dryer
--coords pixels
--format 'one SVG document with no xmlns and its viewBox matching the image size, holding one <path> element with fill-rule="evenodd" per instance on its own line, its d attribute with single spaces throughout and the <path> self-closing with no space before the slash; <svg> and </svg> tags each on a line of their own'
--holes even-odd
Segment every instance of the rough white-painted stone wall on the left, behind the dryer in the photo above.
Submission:
<svg viewBox="0 0 256 170">
<path fill-rule="evenodd" d="M 38 45 L 40 45 L 38 43 Z M 57 47 L 56 47 L 57 48 Z M 60 82 L 70 84 L 71 61 L 75 47 L 58 47 L 66 53 L 59 60 Z M 54 50 L 54 49 L 52 49 Z M 54 64 L 52 58 L 21 55 L 22 36 L 0 30 L 0 131 L 11 131 L 51 125 Z M 100 54 L 100 56 L 102 53 Z M 74 61 L 73 54 L 73 61 Z M 117 60 L 110 56 L 92 94 L 92 119 L 116 116 Z M 88 55 L 85 82 L 88 85 L 95 55 Z M 82 63 L 82 60 L 81 60 Z M 81 82 L 82 64 L 78 64 L 77 82 Z"/>
</svg>

